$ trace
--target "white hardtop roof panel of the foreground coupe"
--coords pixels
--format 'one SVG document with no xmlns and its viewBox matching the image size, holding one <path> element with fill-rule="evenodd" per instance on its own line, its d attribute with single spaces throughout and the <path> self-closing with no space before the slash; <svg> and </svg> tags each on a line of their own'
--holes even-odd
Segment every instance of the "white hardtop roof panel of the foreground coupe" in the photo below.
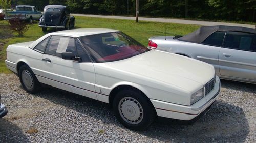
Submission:
<svg viewBox="0 0 256 143">
<path fill-rule="evenodd" d="M 106 28 L 79 28 L 74 30 L 65 30 L 50 33 L 51 35 L 63 35 L 70 37 L 81 37 L 87 35 L 95 35 L 101 33 L 118 32 L 118 30 L 106 29 Z"/>
</svg>

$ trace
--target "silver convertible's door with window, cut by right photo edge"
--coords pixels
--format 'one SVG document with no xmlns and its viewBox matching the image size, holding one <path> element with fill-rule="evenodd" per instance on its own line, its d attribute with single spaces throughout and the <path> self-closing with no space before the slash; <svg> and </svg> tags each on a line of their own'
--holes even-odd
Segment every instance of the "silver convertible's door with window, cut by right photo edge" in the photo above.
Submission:
<svg viewBox="0 0 256 143">
<path fill-rule="evenodd" d="M 227 32 L 219 53 L 221 76 L 256 81 L 256 36 Z"/>
</svg>

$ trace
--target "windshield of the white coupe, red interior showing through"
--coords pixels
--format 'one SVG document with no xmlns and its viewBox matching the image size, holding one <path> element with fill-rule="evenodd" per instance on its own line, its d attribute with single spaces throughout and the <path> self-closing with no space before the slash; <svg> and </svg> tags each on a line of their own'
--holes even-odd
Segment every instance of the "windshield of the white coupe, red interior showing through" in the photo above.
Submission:
<svg viewBox="0 0 256 143">
<path fill-rule="evenodd" d="M 83 36 L 79 40 L 92 59 L 101 63 L 130 58 L 150 50 L 122 32 Z"/>
</svg>

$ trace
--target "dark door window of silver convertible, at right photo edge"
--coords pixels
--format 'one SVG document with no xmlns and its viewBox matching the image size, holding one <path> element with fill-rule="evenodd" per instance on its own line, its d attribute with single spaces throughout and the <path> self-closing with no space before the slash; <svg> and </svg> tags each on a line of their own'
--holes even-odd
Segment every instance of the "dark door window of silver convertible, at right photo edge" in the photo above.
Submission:
<svg viewBox="0 0 256 143">
<path fill-rule="evenodd" d="M 243 32 L 227 32 L 223 47 L 255 52 L 256 36 L 255 34 Z"/>
</svg>

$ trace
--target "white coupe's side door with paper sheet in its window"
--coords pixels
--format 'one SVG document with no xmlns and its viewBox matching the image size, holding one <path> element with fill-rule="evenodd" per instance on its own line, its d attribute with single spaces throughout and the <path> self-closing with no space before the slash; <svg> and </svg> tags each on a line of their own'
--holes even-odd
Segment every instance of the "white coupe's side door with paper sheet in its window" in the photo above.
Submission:
<svg viewBox="0 0 256 143">
<path fill-rule="evenodd" d="M 62 52 L 81 56 L 82 61 L 64 60 Z M 47 84 L 76 94 L 97 99 L 93 63 L 77 39 L 52 36 L 42 56 L 43 78 Z"/>
</svg>

